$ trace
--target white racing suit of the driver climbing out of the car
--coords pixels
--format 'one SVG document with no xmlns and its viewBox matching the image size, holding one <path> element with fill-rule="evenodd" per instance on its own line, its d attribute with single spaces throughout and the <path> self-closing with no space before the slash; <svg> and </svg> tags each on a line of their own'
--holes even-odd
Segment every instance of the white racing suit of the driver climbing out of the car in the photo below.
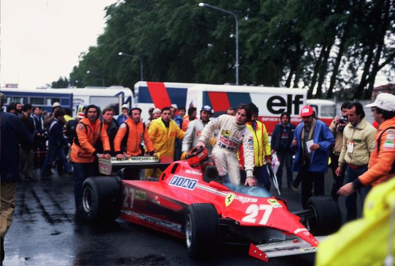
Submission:
<svg viewBox="0 0 395 266">
<path fill-rule="evenodd" d="M 199 140 L 204 143 L 219 130 L 214 148 L 211 152 L 218 174 L 223 180 L 230 181 L 233 185 L 240 185 L 240 170 L 237 151 L 241 144 L 244 150 L 244 168 L 248 176 L 253 176 L 254 170 L 254 140 L 251 131 L 246 125 L 239 126 L 236 117 L 220 115 L 204 127 Z"/>
</svg>

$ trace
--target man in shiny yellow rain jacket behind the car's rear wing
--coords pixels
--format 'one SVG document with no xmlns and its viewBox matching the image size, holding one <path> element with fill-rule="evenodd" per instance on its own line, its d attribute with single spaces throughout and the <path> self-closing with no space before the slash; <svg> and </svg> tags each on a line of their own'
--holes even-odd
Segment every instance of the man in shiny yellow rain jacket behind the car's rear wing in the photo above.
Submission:
<svg viewBox="0 0 395 266">
<path fill-rule="evenodd" d="M 162 116 L 158 119 L 152 120 L 148 129 L 148 133 L 154 144 L 154 150 L 162 161 L 172 161 L 174 158 L 174 141 L 175 138 L 183 139 L 185 132 L 183 132 L 177 124 L 170 119 L 170 108 L 164 107 L 162 109 Z M 153 176 L 159 178 L 162 171 L 159 169 L 147 169 L 145 176 Z"/>
</svg>

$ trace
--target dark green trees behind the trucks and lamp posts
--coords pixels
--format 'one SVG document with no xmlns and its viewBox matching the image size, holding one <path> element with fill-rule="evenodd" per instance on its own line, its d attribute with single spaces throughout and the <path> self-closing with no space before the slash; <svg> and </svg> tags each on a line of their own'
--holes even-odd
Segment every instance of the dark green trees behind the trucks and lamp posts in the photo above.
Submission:
<svg viewBox="0 0 395 266">
<path fill-rule="evenodd" d="M 369 99 L 395 76 L 395 0 L 210 0 L 238 18 L 240 84 L 308 89 L 309 98 Z M 149 81 L 235 83 L 235 20 L 191 0 L 106 7 L 97 45 L 69 74 L 78 87 Z"/>
</svg>

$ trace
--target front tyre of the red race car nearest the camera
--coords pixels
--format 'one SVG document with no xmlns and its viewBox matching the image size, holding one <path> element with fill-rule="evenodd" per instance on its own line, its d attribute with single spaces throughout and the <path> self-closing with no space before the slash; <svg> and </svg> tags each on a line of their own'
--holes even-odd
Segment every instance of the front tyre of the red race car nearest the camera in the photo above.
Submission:
<svg viewBox="0 0 395 266">
<path fill-rule="evenodd" d="M 219 246 L 219 218 L 213 204 L 198 203 L 188 207 L 185 238 L 192 259 L 212 257 Z"/>
</svg>

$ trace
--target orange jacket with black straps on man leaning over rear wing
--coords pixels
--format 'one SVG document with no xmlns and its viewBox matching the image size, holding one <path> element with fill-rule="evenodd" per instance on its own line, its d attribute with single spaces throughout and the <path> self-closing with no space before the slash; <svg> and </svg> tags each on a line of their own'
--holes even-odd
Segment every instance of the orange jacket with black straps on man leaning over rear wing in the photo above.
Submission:
<svg viewBox="0 0 395 266">
<path fill-rule="evenodd" d="M 121 154 L 122 139 L 124 138 L 128 128 L 129 135 L 126 144 L 126 153 L 131 156 L 140 156 L 140 143 L 141 140 L 144 139 L 144 144 L 147 147 L 148 152 L 153 154 L 154 145 L 152 145 L 148 130 L 145 128 L 141 121 L 136 124 L 131 118 L 128 118 L 124 123 L 122 123 L 118 129 L 118 133 L 114 139 L 115 154 Z"/>
</svg>

